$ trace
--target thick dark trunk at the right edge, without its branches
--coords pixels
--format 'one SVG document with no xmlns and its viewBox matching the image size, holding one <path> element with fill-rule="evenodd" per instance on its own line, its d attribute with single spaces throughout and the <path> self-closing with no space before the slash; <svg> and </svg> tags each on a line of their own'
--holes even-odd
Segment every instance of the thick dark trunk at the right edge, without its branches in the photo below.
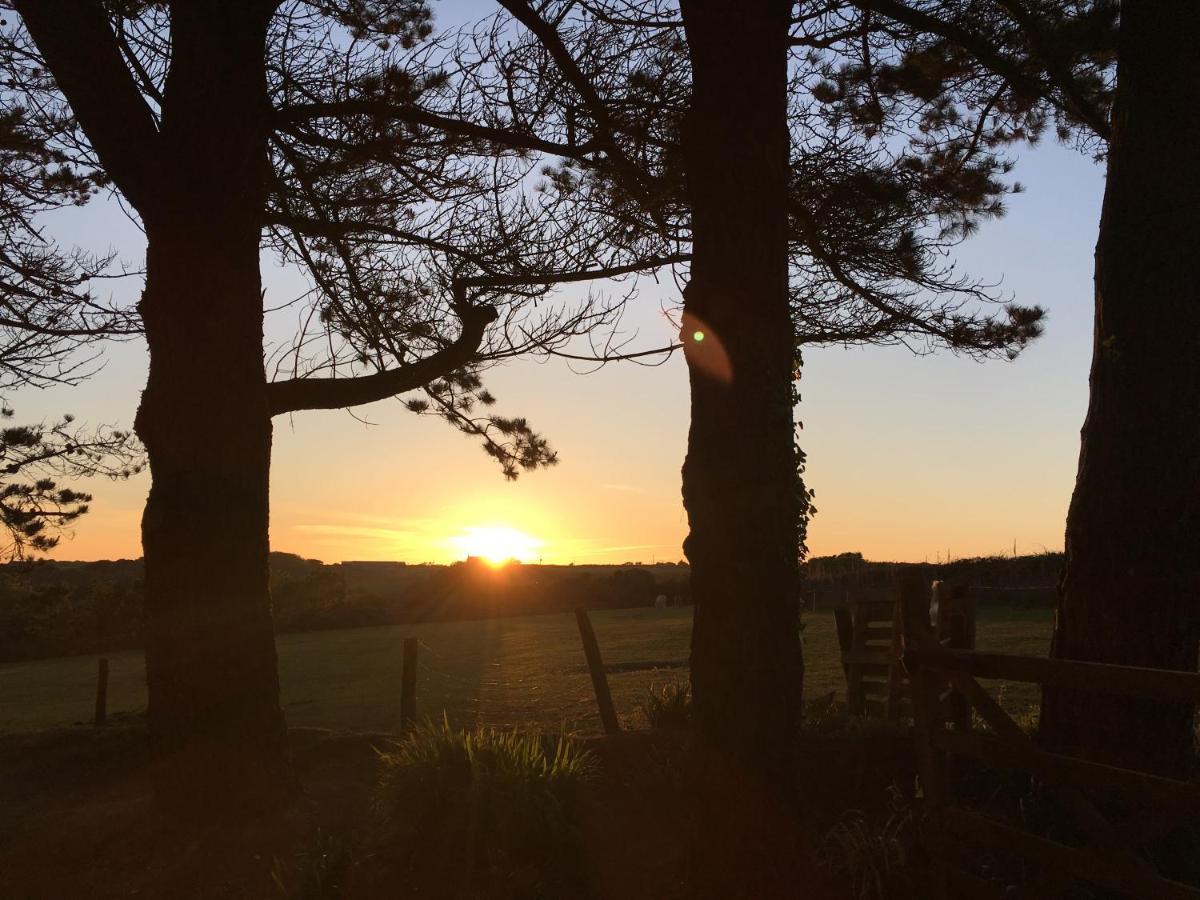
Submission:
<svg viewBox="0 0 1200 900">
<path fill-rule="evenodd" d="M 1091 398 L 1051 655 L 1194 672 L 1200 647 L 1200 5 L 1122 5 Z M 1057 748 L 1169 774 L 1193 708 L 1048 691 Z"/>
</svg>

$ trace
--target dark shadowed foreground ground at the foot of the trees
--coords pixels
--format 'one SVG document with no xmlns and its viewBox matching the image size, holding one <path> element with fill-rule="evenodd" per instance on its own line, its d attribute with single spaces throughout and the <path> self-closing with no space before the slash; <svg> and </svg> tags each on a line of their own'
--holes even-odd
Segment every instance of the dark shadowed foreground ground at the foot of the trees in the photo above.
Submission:
<svg viewBox="0 0 1200 900">
<path fill-rule="evenodd" d="M 292 728 L 302 790 L 296 806 L 241 828 L 196 832 L 155 809 L 140 716 L 120 718 L 103 728 L 2 736 L 0 896 L 449 899 L 442 893 L 445 884 L 416 886 L 398 875 L 367 836 L 379 774 L 376 751 L 392 740 L 386 734 Z M 899 755 L 899 745 L 888 750 L 892 757 L 904 755 L 908 742 L 901 743 Z M 683 900 L 689 829 L 677 768 L 682 737 L 643 730 L 595 736 L 586 744 L 598 761 L 581 824 L 588 887 L 571 900 Z M 847 766 L 852 755 L 805 758 L 820 763 L 820 781 L 827 787 L 830 766 L 859 770 L 859 776 L 894 768 L 894 758 L 882 766 L 866 758 Z M 848 791 L 835 805 L 856 803 L 853 791 L 862 779 L 835 780 Z M 880 793 L 878 785 L 874 793 Z M 821 803 L 828 805 L 828 798 Z M 805 850 L 817 845 L 824 824 L 797 830 L 790 845 L 794 853 L 784 854 L 788 883 L 805 884 L 809 900 L 850 900 Z"/>
</svg>

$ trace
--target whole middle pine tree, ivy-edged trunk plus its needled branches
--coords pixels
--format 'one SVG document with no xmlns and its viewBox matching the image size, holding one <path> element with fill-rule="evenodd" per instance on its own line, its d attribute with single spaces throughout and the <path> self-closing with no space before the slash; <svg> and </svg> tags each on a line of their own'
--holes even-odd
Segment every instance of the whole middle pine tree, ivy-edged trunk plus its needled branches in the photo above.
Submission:
<svg viewBox="0 0 1200 900">
<path fill-rule="evenodd" d="M 832 13 L 500 5 L 505 16 L 448 49 L 469 90 L 438 115 L 553 146 L 564 197 L 680 257 L 696 724 L 750 776 L 731 790 L 786 796 L 810 500 L 792 419 L 799 352 L 904 342 L 1015 355 L 1037 335 L 1040 310 L 989 312 L 986 286 L 943 262 L 1002 211 L 1009 164 L 996 148 L 1010 116 L 926 131 L 900 107 L 868 119 L 844 77 L 859 34 Z"/>
</svg>

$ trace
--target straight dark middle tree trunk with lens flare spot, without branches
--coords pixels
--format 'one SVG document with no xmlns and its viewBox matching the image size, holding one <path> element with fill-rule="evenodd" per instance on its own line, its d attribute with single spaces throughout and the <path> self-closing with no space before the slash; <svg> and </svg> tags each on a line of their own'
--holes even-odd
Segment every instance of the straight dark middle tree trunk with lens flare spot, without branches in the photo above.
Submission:
<svg viewBox="0 0 1200 900">
<path fill-rule="evenodd" d="M 695 730 L 709 794 L 701 812 L 716 827 L 697 852 L 712 895 L 751 895 L 756 886 L 738 881 L 757 856 L 751 823 L 775 817 L 792 797 L 803 674 L 787 278 L 790 5 L 749 0 L 733 11 L 684 0 L 680 8 L 692 62 L 684 551 L 696 606 Z M 743 863 L 733 866 L 740 871 L 715 862 L 718 850 Z"/>
</svg>

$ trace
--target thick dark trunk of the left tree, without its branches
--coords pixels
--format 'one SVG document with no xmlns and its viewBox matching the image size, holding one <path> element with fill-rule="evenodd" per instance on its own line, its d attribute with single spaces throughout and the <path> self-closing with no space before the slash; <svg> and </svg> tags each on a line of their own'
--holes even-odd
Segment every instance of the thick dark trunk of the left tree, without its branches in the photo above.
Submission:
<svg viewBox="0 0 1200 900">
<path fill-rule="evenodd" d="M 229 820 L 288 793 L 268 582 L 271 420 L 259 222 L 269 5 L 172 8 L 164 184 L 146 226 L 150 377 L 137 432 L 149 724 L 160 803 Z"/>
</svg>

